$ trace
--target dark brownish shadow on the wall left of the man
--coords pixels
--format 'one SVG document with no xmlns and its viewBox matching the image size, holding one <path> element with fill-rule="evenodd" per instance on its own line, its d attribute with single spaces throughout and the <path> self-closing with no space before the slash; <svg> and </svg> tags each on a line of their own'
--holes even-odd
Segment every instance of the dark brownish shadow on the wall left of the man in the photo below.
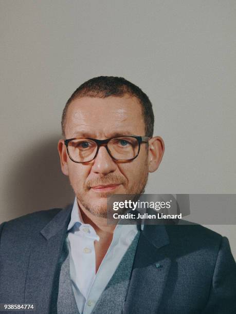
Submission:
<svg viewBox="0 0 236 314">
<path fill-rule="evenodd" d="M 11 218 L 74 202 L 68 177 L 61 172 L 58 136 L 30 144 L 12 165 L 5 196 Z"/>
</svg>

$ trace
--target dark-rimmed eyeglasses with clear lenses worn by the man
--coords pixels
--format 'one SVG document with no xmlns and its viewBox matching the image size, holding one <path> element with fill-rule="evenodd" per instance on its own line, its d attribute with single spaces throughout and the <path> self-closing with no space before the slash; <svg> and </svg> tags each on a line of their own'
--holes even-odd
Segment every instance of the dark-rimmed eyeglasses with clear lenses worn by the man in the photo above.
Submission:
<svg viewBox="0 0 236 314">
<path fill-rule="evenodd" d="M 64 140 L 70 160 L 75 163 L 88 163 L 94 160 L 101 146 L 116 161 L 134 160 L 140 151 L 141 143 L 148 143 L 147 136 L 123 135 L 106 140 L 73 138 Z"/>
</svg>

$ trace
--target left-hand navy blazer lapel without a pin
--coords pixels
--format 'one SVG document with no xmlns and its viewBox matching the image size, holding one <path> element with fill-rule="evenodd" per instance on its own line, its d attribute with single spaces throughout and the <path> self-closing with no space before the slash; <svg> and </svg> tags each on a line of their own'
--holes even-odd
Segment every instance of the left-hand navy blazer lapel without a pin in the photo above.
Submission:
<svg viewBox="0 0 236 314">
<path fill-rule="evenodd" d="M 35 304 L 37 313 L 50 309 L 53 279 L 72 206 L 62 209 L 33 239 L 25 287 L 25 303 Z"/>
</svg>

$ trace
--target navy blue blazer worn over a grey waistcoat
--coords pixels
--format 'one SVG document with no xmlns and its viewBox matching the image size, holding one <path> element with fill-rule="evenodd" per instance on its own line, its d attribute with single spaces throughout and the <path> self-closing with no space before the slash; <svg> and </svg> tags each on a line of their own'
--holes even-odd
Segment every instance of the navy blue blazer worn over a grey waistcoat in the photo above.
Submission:
<svg viewBox="0 0 236 314">
<path fill-rule="evenodd" d="M 0 303 L 53 312 L 71 209 L 34 212 L 0 226 Z M 145 225 L 123 313 L 235 314 L 236 265 L 227 238 L 200 225 Z"/>
</svg>

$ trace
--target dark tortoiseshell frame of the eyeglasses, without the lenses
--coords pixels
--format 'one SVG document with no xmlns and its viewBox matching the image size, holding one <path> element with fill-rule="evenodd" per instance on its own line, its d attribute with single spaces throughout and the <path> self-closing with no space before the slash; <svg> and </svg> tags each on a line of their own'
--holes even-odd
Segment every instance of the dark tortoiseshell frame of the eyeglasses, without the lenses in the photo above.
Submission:
<svg viewBox="0 0 236 314">
<path fill-rule="evenodd" d="M 138 141 L 138 152 L 137 152 L 137 155 L 132 158 L 132 159 L 116 159 L 113 157 L 113 155 L 111 154 L 111 152 L 109 151 L 108 147 L 107 147 L 107 144 L 108 142 L 110 142 L 111 140 L 113 139 L 119 139 L 119 138 L 134 138 Z M 74 141 L 74 140 L 90 140 L 90 141 L 94 141 L 96 144 L 97 144 L 97 151 L 96 151 L 96 154 L 94 156 L 93 159 L 89 160 L 89 161 L 86 161 L 86 162 L 77 162 L 75 161 L 74 159 L 72 159 L 72 157 L 70 156 L 69 154 L 69 149 L 68 149 L 68 144 L 69 142 L 71 141 Z M 136 135 L 121 135 L 121 136 L 115 136 L 115 137 L 112 137 L 112 138 L 109 138 L 109 139 L 106 139 L 106 140 L 97 140 L 97 139 L 92 139 L 92 138 L 72 138 L 72 139 L 66 139 L 64 140 L 64 144 L 66 146 L 66 151 L 67 151 L 67 154 L 69 156 L 69 159 L 74 162 L 74 163 L 77 163 L 77 164 L 86 164 L 86 163 L 90 163 L 92 162 L 96 157 L 97 157 L 97 154 L 98 154 L 98 151 L 99 151 L 99 148 L 101 146 L 104 146 L 106 148 L 106 151 L 108 152 L 108 154 L 110 155 L 110 157 L 115 160 L 115 161 L 119 161 L 119 162 L 129 162 L 129 161 L 132 161 L 134 160 L 135 158 L 137 158 L 138 154 L 139 154 L 139 151 L 140 151 L 140 146 L 141 146 L 141 143 L 149 143 L 149 140 L 150 138 L 148 136 L 136 136 Z"/>
</svg>

